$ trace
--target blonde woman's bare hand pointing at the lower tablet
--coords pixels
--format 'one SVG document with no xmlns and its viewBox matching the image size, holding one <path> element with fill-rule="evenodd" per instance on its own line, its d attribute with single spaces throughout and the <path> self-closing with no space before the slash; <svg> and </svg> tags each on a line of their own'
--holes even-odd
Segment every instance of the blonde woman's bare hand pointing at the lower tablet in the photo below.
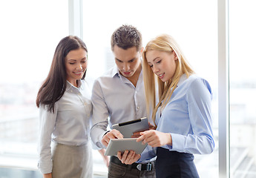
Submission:
<svg viewBox="0 0 256 178">
<path fill-rule="evenodd" d="M 151 147 L 161 147 L 163 145 L 172 145 L 171 134 L 163 133 L 160 131 L 150 130 L 140 133 L 141 136 L 137 139 L 137 142 L 143 144 L 148 143 Z"/>
</svg>

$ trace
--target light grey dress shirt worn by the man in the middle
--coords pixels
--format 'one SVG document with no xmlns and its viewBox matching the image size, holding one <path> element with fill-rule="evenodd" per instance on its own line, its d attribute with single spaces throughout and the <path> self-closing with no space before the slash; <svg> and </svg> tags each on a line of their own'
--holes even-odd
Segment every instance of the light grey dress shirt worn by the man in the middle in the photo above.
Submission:
<svg viewBox="0 0 256 178">
<path fill-rule="evenodd" d="M 119 73 L 116 66 L 111 68 L 94 82 L 91 101 L 93 104 L 91 139 L 99 148 L 105 148 L 101 140 L 108 124 L 111 128 L 114 124 L 147 116 L 142 71 L 134 87 Z"/>
</svg>

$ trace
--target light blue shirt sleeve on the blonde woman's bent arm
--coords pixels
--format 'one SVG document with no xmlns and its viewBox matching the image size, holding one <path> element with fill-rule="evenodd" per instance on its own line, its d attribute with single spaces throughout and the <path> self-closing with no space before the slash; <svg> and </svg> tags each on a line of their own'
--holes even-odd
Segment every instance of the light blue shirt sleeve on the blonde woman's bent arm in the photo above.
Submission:
<svg viewBox="0 0 256 178">
<path fill-rule="evenodd" d="M 193 133 L 187 136 L 171 133 L 171 149 L 191 154 L 210 154 L 214 150 L 214 139 L 211 128 L 211 87 L 209 83 L 203 79 L 194 80 L 188 89 L 186 99 Z"/>
</svg>

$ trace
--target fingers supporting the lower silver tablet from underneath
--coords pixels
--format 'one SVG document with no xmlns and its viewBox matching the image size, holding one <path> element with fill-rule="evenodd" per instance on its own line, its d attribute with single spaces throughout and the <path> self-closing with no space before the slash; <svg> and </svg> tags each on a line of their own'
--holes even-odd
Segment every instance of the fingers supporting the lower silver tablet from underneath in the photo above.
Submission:
<svg viewBox="0 0 256 178">
<path fill-rule="evenodd" d="M 121 154 L 121 152 L 118 151 L 117 157 L 122 162 L 122 164 L 131 165 L 140 159 L 140 154 L 135 154 L 135 151 L 125 151 L 123 154 Z"/>
</svg>

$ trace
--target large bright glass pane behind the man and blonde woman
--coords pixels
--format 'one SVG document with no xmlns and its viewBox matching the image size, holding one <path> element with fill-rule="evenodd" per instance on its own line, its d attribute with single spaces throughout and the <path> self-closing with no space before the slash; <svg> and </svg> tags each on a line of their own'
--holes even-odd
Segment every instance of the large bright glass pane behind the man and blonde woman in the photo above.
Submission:
<svg viewBox="0 0 256 178">
<path fill-rule="evenodd" d="M 215 150 L 210 155 L 195 155 L 195 162 L 200 177 L 218 177 L 217 1 L 96 0 L 86 1 L 83 13 L 88 75 L 94 78 L 114 65 L 111 34 L 122 24 L 132 24 L 141 31 L 143 46 L 161 33 L 168 33 L 177 40 L 188 62 L 197 74 L 209 81 L 214 93 Z M 101 162 L 101 157 L 94 155 Z M 102 168 L 104 166 L 102 164 Z M 94 169 L 100 171 L 98 168 Z"/>
</svg>

